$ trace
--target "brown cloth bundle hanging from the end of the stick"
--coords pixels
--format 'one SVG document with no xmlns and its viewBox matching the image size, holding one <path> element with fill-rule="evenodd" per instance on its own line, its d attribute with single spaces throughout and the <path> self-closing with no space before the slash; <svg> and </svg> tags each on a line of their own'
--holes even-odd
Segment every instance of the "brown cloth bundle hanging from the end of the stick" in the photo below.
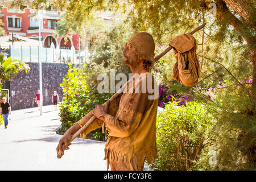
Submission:
<svg viewBox="0 0 256 182">
<path fill-rule="evenodd" d="M 169 43 L 177 54 L 177 62 L 172 70 L 172 77 L 185 86 L 198 82 L 200 74 L 199 60 L 196 56 L 196 39 L 191 34 L 176 36 Z"/>
</svg>

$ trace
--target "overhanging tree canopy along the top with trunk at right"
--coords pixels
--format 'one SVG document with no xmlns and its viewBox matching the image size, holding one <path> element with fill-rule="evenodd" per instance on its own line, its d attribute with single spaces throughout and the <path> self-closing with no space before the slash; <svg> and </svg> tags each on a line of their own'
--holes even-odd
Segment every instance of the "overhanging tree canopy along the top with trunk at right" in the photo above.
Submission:
<svg viewBox="0 0 256 182">
<path fill-rule="evenodd" d="M 20 3 L 20 1 L 17 1 Z M 44 1 L 34 0 L 34 7 L 38 7 Z M 179 1 L 162 1 L 162 0 L 138 0 L 138 1 L 67 1 L 53 0 L 52 5 L 59 9 L 65 9 L 65 14 L 69 17 L 70 27 L 81 27 L 86 22 L 87 17 L 92 12 L 100 9 L 113 10 L 123 8 L 133 23 L 137 31 L 152 31 L 159 40 L 162 39 L 164 32 L 179 30 L 181 27 L 195 27 L 195 23 L 205 21 L 209 17 L 209 11 L 212 8 L 210 3 L 217 7 L 215 22 L 208 22 L 208 27 L 216 26 L 215 29 L 225 31 L 230 26 L 238 32 L 238 35 L 246 42 L 247 50 L 250 52 L 252 63 L 253 82 L 251 87 L 251 97 L 256 101 L 256 63 L 255 63 L 255 1 L 250 0 L 179 0 Z M 48 2 L 49 3 L 49 2 Z M 14 3 L 15 5 L 15 3 Z M 169 27 L 168 27 L 169 26 Z M 172 26 L 170 28 L 170 26 Z M 209 28 L 210 30 L 211 28 Z M 216 31 L 217 32 L 217 31 Z M 227 31 L 228 32 L 228 31 Z M 222 36 L 226 32 L 222 32 Z M 173 35 L 173 34 L 171 34 Z M 217 35 L 217 34 L 216 34 Z M 255 104 L 255 103 L 254 103 Z"/>
</svg>

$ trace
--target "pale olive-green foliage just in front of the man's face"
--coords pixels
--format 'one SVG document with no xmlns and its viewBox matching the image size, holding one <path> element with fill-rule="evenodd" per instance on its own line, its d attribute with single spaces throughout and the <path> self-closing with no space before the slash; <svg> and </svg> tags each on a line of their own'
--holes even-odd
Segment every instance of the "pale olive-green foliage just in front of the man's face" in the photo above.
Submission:
<svg viewBox="0 0 256 182">
<path fill-rule="evenodd" d="M 99 35 L 92 35 L 90 37 L 91 44 L 90 50 L 93 50 L 90 56 L 90 62 L 92 67 L 103 66 L 104 72 L 99 73 L 110 73 L 110 69 L 115 69 L 117 73 L 131 73 L 127 65 L 123 64 L 123 47 L 127 42 L 129 33 L 127 30 L 123 30 L 122 24 L 110 28 L 108 31 L 102 32 Z M 93 75 L 92 77 L 96 77 Z"/>
</svg>

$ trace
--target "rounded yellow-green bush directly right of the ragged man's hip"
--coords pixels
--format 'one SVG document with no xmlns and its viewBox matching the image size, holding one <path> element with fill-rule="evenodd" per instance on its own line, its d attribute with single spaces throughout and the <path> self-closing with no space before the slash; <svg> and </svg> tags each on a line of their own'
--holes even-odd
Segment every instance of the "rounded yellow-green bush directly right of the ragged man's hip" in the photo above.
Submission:
<svg viewBox="0 0 256 182">
<path fill-rule="evenodd" d="M 177 106 L 170 102 L 156 119 L 158 158 L 152 164 L 157 170 L 196 169 L 201 151 L 207 148 L 207 132 L 213 123 L 200 102 Z"/>
</svg>

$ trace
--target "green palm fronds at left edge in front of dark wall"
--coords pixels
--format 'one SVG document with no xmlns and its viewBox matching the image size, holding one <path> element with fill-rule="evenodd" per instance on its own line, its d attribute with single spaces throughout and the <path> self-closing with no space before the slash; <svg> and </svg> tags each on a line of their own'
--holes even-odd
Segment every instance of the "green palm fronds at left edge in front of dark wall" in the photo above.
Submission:
<svg viewBox="0 0 256 182">
<path fill-rule="evenodd" d="M 11 57 L 6 58 L 5 55 L 0 53 L 0 81 L 10 81 L 23 70 L 27 73 L 30 67 L 23 61 L 13 60 Z"/>
</svg>

